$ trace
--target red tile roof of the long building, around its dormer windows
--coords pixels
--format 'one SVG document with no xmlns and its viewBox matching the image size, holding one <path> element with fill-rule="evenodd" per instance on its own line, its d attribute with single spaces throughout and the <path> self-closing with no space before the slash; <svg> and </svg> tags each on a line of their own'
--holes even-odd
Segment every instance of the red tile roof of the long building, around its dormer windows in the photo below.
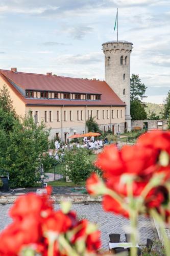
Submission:
<svg viewBox="0 0 170 256">
<path fill-rule="evenodd" d="M 24 90 L 101 94 L 101 100 L 29 99 L 22 96 L 27 105 L 126 105 L 105 81 L 8 70 L 0 70 L 0 74 Z"/>
</svg>

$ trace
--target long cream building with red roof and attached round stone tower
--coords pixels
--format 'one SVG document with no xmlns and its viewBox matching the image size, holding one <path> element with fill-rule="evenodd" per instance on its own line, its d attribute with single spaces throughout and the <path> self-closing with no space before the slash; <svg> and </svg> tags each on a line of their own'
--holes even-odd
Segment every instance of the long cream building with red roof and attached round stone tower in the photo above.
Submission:
<svg viewBox="0 0 170 256">
<path fill-rule="evenodd" d="M 103 44 L 105 80 L 80 79 L 0 70 L 0 89 L 10 92 L 16 113 L 31 115 L 51 128 L 50 138 L 62 141 L 87 132 L 86 121 L 95 117 L 102 131 L 131 130 L 130 53 L 132 43 Z"/>
</svg>

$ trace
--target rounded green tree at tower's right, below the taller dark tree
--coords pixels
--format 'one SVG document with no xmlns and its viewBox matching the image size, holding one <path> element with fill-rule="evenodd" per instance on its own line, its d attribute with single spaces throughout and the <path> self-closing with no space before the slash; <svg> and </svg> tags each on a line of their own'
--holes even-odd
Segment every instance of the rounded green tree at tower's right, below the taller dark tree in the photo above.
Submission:
<svg viewBox="0 0 170 256">
<path fill-rule="evenodd" d="M 147 119 L 147 113 L 144 110 L 143 103 L 141 103 L 138 99 L 131 101 L 131 117 L 132 120 Z"/>
</svg>

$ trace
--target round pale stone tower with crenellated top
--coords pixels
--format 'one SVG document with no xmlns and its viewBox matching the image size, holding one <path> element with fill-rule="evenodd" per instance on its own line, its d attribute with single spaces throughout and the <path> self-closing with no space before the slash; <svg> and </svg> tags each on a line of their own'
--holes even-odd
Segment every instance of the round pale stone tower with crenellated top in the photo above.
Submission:
<svg viewBox="0 0 170 256">
<path fill-rule="evenodd" d="M 108 41 L 103 46 L 105 54 L 105 81 L 117 96 L 126 103 L 125 129 L 131 131 L 130 115 L 130 55 L 132 42 Z"/>
</svg>

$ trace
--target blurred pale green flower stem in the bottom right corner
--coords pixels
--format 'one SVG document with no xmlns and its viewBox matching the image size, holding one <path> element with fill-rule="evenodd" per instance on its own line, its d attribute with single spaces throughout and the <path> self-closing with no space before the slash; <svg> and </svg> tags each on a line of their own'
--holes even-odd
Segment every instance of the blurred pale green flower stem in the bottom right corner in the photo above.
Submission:
<svg viewBox="0 0 170 256">
<path fill-rule="evenodd" d="M 168 240 L 168 238 L 166 236 L 166 233 L 165 233 L 165 228 L 166 228 L 165 223 L 162 220 L 161 216 L 154 209 L 152 209 L 150 211 L 150 214 L 156 220 L 157 224 L 160 227 L 161 235 L 163 237 L 163 244 L 164 244 L 164 247 L 165 247 L 166 256 L 170 256 L 170 243 L 169 243 L 169 240 Z"/>
</svg>

